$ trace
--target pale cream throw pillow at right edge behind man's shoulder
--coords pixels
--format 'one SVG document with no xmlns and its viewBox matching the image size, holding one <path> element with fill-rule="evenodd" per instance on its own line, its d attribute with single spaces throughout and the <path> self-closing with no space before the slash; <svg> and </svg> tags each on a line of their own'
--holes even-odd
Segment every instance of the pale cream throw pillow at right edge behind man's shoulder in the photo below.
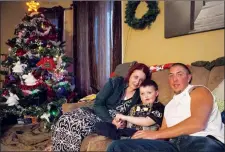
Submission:
<svg viewBox="0 0 225 152">
<path fill-rule="evenodd" d="M 212 91 L 220 112 L 224 110 L 224 80 Z"/>
</svg>

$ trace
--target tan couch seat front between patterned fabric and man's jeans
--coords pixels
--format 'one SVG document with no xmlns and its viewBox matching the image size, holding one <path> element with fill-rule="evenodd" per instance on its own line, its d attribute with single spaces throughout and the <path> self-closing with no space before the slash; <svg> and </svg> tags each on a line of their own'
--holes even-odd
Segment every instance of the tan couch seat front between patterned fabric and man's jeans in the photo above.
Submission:
<svg viewBox="0 0 225 152">
<path fill-rule="evenodd" d="M 84 138 L 80 151 L 106 151 L 111 139 L 97 134 L 91 134 Z"/>
</svg>

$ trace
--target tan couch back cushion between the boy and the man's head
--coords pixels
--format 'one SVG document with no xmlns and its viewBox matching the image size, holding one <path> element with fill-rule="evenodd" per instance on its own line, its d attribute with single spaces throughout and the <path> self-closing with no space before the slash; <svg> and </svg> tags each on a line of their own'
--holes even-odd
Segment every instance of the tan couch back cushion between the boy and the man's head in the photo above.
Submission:
<svg viewBox="0 0 225 152">
<path fill-rule="evenodd" d="M 173 91 L 170 89 L 168 83 L 168 70 L 158 71 L 152 73 L 152 79 L 159 86 L 159 101 L 166 105 L 173 96 Z"/>
</svg>

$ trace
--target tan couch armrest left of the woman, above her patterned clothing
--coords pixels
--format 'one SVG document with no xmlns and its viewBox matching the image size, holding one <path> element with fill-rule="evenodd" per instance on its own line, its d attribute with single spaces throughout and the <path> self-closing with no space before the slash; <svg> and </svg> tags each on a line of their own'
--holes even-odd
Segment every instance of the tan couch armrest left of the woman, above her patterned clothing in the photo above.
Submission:
<svg viewBox="0 0 225 152">
<path fill-rule="evenodd" d="M 80 107 L 92 107 L 93 104 L 94 104 L 94 100 L 92 100 L 92 101 L 77 102 L 77 103 L 64 103 L 62 105 L 62 112 L 64 114 L 66 112 L 73 111 L 76 108 L 80 108 Z"/>
</svg>

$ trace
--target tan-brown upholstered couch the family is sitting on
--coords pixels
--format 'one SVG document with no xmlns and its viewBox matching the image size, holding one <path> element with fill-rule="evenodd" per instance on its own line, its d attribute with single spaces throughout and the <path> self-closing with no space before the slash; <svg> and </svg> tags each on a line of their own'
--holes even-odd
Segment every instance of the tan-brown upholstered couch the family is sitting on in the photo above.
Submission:
<svg viewBox="0 0 225 152">
<path fill-rule="evenodd" d="M 133 64 L 133 63 L 131 63 Z M 129 68 L 128 63 L 117 66 L 115 75 L 124 76 Z M 211 91 L 214 90 L 224 80 L 224 66 L 217 66 L 212 68 L 210 71 L 204 67 L 190 66 L 192 72 L 192 83 L 201 84 L 207 86 Z M 173 96 L 173 91 L 170 89 L 168 84 L 168 69 L 152 74 L 152 79 L 159 85 L 159 100 L 166 105 Z M 93 101 L 90 102 L 79 102 L 79 103 L 66 103 L 63 105 L 63 112 L 72 111 L 75 108 L 81 106 L 91 106 Z M 106 151 L 107 145 L 111 143 L 111 140 L 96 134 L 92 134 L 84 138 L 81 151 Z"/>
</svg>

